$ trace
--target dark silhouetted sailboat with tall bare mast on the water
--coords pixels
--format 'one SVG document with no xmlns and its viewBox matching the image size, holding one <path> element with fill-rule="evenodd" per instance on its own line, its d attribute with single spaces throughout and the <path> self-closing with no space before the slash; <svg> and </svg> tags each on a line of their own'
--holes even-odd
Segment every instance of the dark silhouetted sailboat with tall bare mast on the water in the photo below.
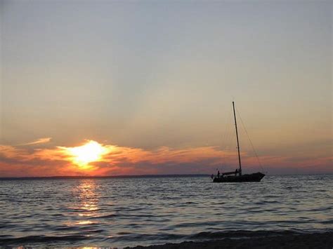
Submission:
<svg viewBox="0 0 333 249">
<path fill-rule="evenodd" d="M 235 102 L 233 102 L 233 116 L 235 118 L 235 128 L 236 128 L 236 139 L 237 139 L 237 151 L 238 151 L 238 162 L 240 168 L 237 168 L 235 171 L 221 173 L 218 171 L 217 175 L 211 175 L 213 182 L 260 182 L 265 174 L 258 172 L 252 174 L 242 175 L 242 163 L 240 161 L 240 142 L 238 140 L 238 131 L 237 131 L 237 120 L 235 113 Z"/>
</svg>

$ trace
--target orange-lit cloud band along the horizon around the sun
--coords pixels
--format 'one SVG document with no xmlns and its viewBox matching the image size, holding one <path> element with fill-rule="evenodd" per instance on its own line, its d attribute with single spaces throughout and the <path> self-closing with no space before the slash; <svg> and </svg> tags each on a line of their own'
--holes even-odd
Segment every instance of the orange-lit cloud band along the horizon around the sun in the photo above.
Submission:
<svg viewBox="0 0 333 249">
<path fill-rule="evenodd" d="M 48 138 L 41 141 L 47 141 Z M 35 142 L 37 142 L 35 141 Z M 49 140 L 48 140 L 49 141 Z M 32 142 L 33 144 L 36 144 Z M 86 140 L 89 142 L 89 140 Z M 30 144 L 32 144 L 30 143 Z M 82 145 L 82 144 L 81 144 Z M 236 152 L 218 147 L 189 147 L 172 149 L 160 147 L 146 150 L 100 144 L 107 151 L 89 166 L 75 164 L 67 149 L 52 147 L 29 149 L 0 145 L 0 177 L 53 176 L 53 175 L 141 175 L 141 174 L 197 174 L 214 173 L 237 168 Z M 242 152 L 243 172 L 262 170 L 254 156 Z M 272 173 L 332 173 L 332 157 L 287 156 L 260 157 L 264 170 Z M 74 163 L 73 163 L 74 162 Z M 302 171 L 303 170 L 303 171 Z"/>
</svg>

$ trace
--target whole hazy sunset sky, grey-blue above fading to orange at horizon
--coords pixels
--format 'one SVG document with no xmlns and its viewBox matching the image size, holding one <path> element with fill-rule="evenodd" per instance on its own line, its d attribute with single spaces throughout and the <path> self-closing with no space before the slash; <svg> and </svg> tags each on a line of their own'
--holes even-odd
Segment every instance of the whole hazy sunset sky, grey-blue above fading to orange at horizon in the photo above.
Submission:
<svg viewBox="0 0 333 249">
<path fill-rule="evenodd" d="M 2 0 L 0 15 L 0 177 L 235 169 L 232 101 L 243 172 L 333 173 L 332 1 Z M 69 148 L 94 142 L 78 163 Z"/>
</svg>

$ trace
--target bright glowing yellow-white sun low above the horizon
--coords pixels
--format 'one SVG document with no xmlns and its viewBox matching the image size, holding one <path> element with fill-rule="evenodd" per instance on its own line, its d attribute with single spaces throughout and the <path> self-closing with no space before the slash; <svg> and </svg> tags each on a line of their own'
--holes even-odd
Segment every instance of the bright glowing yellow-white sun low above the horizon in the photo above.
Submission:
<svg viewBox="0 0 333 249">
<path fill-rule="evenodd" d="M 88 140 L 86 144 L 79 147 L 63 147 L 63 149 L 71 156 L 72 162 L 78 166 L 89 166 L 91 162 L 100 161 L 103 159 L 103 155 L 110 151 L 93 140 Z"/>
</svg>

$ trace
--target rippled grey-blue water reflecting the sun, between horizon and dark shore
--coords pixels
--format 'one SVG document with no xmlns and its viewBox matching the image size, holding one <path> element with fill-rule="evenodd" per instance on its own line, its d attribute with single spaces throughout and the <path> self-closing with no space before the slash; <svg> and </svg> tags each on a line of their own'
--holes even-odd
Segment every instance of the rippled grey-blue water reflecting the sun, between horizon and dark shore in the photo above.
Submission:
<svg viewBox="0 0 333 249">
<path fill-rule="evenodd" d="M 332 231 L 333 175 L 0 181 L 0 245 L 151 245 Z"/>
</svg>

